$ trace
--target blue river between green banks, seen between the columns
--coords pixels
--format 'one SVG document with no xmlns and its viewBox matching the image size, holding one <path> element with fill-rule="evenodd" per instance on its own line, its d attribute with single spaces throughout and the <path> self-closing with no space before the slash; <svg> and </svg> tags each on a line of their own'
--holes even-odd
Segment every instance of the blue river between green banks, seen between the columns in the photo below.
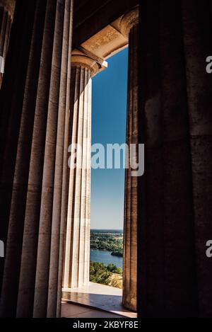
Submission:
<svg viewBox="0 0 212 332">
<path fill-rule="evenodd" d="M 100 251 L 90 249 L 90 261 L 104 263 L 105 265 L 114 264 L 117 268 L 123 268 L 123 258 L 112 256 L 110 251 Z"/>
</svg>

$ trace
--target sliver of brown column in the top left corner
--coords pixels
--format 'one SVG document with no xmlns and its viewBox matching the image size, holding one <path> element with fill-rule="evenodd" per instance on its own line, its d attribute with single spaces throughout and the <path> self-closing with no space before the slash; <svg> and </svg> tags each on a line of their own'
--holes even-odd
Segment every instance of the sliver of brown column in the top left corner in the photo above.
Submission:
<svg viewBox="0 0 212 332">
<path fill-rule="evenodd" d="M 0 88 L 16 0 L 0 0 Z"/>
</svg>

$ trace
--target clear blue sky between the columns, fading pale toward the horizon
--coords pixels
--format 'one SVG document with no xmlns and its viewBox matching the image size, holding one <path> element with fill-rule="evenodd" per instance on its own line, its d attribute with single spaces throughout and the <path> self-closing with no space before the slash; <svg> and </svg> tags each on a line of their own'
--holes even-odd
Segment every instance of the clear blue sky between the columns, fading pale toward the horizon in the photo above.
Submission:
<svg viewBox="0 0 212 332">
<path fill-rule="evenodd" d="M 93 78 L 92 143 L 126 142 L 128 49 L 107 59 L 108 69 Z M 91 228 L 123 229 L 124 169 L 92 170 Z"/>
</svg>

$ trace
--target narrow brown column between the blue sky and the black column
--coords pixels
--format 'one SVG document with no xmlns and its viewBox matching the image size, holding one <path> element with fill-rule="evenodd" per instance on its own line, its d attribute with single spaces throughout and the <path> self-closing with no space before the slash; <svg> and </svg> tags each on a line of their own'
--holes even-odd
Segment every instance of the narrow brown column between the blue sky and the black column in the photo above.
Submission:
<svg viewBox="0 0 212 332">
<path fill-rule="evenodd" d="M 122 34 L 129 38 L 129 79 L 126 143 L 138 147 L 138 63 L 139 63 L 139 8 L 127 13 L 120 23 Z M 137 224 L 138 224 L 138 178 L 131 175 L 131 156 L 125 179 L 124 208 L 124 307 L 137 309 Z"/>
</svg>

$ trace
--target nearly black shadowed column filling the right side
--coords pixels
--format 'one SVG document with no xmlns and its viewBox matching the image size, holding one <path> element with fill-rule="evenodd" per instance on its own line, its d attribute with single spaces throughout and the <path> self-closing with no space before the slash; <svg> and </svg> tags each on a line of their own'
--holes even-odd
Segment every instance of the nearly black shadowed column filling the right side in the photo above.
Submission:
<svg viewBox="0 0 212 332">
<path fill-rule="evenodd" d="M 211 1 L 143 0 L 139 315 L 211 317 Z M 142 142 L 141 141 L 141 142 Z"/>
</svg>

